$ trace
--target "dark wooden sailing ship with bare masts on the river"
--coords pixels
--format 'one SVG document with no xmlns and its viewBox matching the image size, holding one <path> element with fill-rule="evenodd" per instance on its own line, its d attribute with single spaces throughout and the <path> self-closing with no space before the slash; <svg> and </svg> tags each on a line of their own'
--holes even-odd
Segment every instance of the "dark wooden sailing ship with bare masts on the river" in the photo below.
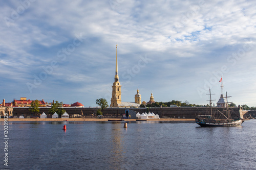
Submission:
<svg viewBox="0 0 256 170">
<path fill-rule="evenodd" d="M 222 78 L 220 82 L 222 81 Z M 221 91 L 223 88 L 223 84 L 221 84 Z M 210 89 L 209 89 L 210 92 Z M 222 93 L 222 92 L 221 92 Z M 227 96 L 226 92 L 226 102 L 225 107 L 223 109 L 220 108 L 212 108 L 212 100 L 211 100 L 211 92 L 209 93 L 210 100 L 209 100 L 209 108 L 207 109 L 207 113 L 205 115 L 198 115 L 196 117 L 196 123 L 200 125 L 201 127 L 227 127 L 227 126 L 241 126 L 241 124 L 244 122 L 244 119 L 240 118 L 239 116 L 234 119 L 231 116 L 230 109 L 228 107 L 227 99 L 231 96 Z M 223 94 L 221 94 L 221 97 L 223 98 Z M 224 100 L 223 100 L 224 101 Z"/>
</svg>

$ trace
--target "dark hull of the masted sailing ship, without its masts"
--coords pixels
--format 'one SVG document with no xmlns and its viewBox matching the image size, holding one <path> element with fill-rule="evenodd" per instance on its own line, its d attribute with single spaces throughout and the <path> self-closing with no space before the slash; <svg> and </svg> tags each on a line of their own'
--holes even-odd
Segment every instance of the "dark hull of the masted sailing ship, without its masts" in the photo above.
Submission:
<svg viewBox="0 0 256 170">
<path fill-rule="evenodd" d="M 244 121 L 242 119 L 237 119 L 237 120 L 229 120 L 229 122 L 222 122 L 219 120 L 216 121 L 207 121 L 207 119 L 198 119 L 196 118 L 196 123 L 200 125 L 201 127 L 236 127 L 236 126 L 241 126 L 241 124 Z"/>
</svg>

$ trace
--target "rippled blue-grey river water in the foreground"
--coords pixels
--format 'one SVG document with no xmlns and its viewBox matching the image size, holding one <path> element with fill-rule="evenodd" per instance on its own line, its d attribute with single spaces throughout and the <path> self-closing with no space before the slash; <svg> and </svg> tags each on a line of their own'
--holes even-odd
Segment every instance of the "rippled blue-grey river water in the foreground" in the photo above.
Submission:
<svg viewBox="0 0 256 170">
<path fill-rule="evenodd" d="M 8 166 L 2 161 L 0 168 L 256 169 L 256 120 L 206 128 L 161 121 L 128 122 L 127 129 L 116 122 L 8 124 Z"/>
</svg>

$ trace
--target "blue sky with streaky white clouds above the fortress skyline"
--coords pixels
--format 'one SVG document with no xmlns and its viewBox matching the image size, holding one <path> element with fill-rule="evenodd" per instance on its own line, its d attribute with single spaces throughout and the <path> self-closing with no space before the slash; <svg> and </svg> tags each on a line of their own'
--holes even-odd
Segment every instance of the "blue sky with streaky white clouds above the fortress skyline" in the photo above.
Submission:
<svg viewBox="0 0 256 170">
<path fill-rule="evenodd" d="M 1 1 L 0 99 L 256 106 L 256 1 Z"/>
</svg>

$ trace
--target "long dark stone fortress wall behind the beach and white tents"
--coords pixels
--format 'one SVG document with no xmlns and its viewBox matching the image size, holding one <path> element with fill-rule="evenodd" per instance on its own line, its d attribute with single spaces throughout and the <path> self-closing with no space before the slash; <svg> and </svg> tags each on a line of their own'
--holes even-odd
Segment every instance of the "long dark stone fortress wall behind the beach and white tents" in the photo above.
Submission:
<svg viewBox="0 0 256 170">
<path fill-rule="evenodd" d="M 42 107 L 40 108 L 40 114 L 42 112 L 45 112 L 46 114 L 49 114 L 49 109 L 48 107 Z M 83 115 L 89 115 L 89 114 L 93 114 L 97 112 L 97 109 L 99 108 L 72 108 L 72 107 L 67 107 L 64 108 L 67 113 L 71 116 L 73 114 L 81 114 L 81 111 L 83 112 Z M 136 112 L 139 112 L 140 114 L 142 114 L 142 112 L 146 112 L 146 108 L 105 108 L 103 111 L 104 115 L 112 115 L 112 116 L 116 116 L 116 115 L 122 115 L 125 114 L 125 110 L 130 109 L 130 110 L 134 110 Z M 212 110 L 216 110 L 217 108 L 212 108 Z M 223 112 L 223 108 L 218 108 L 221 112 Z M 154 112 L 155 114 L 158 114 L 160 116 L 160 118 L 164 118 L 164 117 L 169 117 L 169 118 L 195 118 L 197 115 L 199 114 L 206 114 L 206 110 L 207 108 L 205 107 L 163 107 L 163 108 L 149 108 L 150 112 Z M 240 117 L 240 110 L 238 108 L 232 108 L 232 112 L 231 112 L 231 116 L 232 118 L 238 118 L 238 116 Z M 220 114 L 220 113 L 219 113 Z M 28 107 L 17 107 L 17 108 L 13 108 L 13 115 L 31 115 L 31 113 L 29 112 L 29 108 Z M 221 114 L 220 114 L 221 116 Z M 224 117 L 222 117 L 224 118 Z"/>
</svg>

